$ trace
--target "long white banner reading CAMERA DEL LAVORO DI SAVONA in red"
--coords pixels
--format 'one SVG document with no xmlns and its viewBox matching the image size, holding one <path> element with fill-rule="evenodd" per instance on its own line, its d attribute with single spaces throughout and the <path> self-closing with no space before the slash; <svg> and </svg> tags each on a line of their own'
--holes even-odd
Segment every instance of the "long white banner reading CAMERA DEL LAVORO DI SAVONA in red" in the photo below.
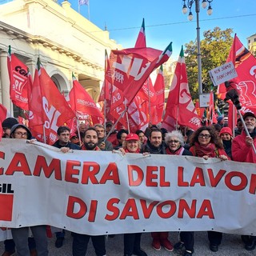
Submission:
<svg viewBox="0 0 256 256">
<path fill-rule="evenodd" d="M 255 164 L 0 142 L 0 226 L 256 234 Z"/>
</svg>

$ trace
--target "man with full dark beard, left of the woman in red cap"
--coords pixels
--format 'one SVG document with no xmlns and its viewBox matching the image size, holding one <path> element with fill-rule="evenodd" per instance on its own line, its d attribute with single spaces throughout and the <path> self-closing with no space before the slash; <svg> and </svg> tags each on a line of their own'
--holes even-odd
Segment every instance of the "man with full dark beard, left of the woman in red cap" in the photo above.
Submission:
<svg viewBox="0 0 256 256">
<path fill-rule="evenodd" d="M 82 150 L 100 151 L 98 144 L 98 133 L 95 128 L 90 127 L 84 133 Z M 104 235 L 89 235 L 73 233 L 73 256 L 85 256 L 89 240 L 92 240 L 95 254 L 97 256 L 106 255 L 105 236 Z"/>
</svg>

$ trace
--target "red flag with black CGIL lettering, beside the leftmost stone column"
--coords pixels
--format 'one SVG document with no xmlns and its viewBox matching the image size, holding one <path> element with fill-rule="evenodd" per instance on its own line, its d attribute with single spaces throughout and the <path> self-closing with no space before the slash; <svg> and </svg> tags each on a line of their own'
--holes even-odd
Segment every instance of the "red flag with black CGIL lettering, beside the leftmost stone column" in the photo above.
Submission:
<svg viewBox="0 0 256 256">
<path fill-rule="evenodd" d="M 10 78 L 10 99 L 22 110 L 29 110 L 27 93 L 28 68 L 14 54 L 11 54 L 10 46 L 7 66 Z"/>
</svg>

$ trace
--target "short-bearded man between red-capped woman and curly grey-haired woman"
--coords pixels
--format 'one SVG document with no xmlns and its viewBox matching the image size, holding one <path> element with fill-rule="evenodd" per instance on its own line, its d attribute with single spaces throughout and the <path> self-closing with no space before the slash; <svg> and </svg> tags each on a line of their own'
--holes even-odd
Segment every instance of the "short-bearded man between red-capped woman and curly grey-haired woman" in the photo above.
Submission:
<svg viewBox="0 0 256 256">
<path fill-rule="evenodd" d="M 142 146 L 141 153 L 148 152 L 150 154 L 166 154 L 166 148 L 162 142 L 162 132 L 158 128 L 150 130 L 149 139 L 145 145 Z M 152 232 L 153 238 L 152 247 L 154 250 L 161 250 L 163 246 L 166 250 L 174 250 L 174 246 L 168 240 L 168 231 L 166 232 Z"/>
</svg>

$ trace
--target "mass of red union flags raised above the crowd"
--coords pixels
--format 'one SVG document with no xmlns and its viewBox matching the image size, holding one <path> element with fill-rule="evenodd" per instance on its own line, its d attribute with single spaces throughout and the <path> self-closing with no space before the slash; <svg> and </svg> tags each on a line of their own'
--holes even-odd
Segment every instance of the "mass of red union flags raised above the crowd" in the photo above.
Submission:
<svg viewBox="0 0 256 256">
<path fill-rule="evenodd" d="M 143 19 L 134 48 L 112 50 L 110 58 L 105 53 L 105 80 L 98 102 L 102 111 L 72 75 L 73 86 L 65 98 L 58 90 L 38 58 L 32 82 L 30 71 L 9 49 L 8 70 L 10 76 L 10 99 L 22 110 L 26 110 L 28 126 L 39 141 L 53 144 L 57 140 L 58 126 L 67 125 L 75 131 L 78 120 L 88 124 L 113 122 L 130 131 L 145 130 L 149 122 L 174 130 L 179 126 L 200 127 L 204 109 L 193 103 L 186 75 L 183 48 L 178 57 L 174 78 L 170 86 L 165 106 L 165 82 L 162 63 L 172 52 L 171 43 L 163 52 L 146 47 L 145 22 Z M 252 63 L 255 58 L 235 35 L 226 62 L 234 62 L 238 73 L 238 86 L 242 112 L 256 110 L 256 78 L 251 78 Z M 159 67 L 159 68 L 158 68 Z M 158 68 L 154 85 L 150 74 Z M 218 97 L 224 99 L 226 88 L 218 86 Z M 232 102 L 229 102 L 232 106 Z M 7 117 L 6 108 L 0 105 L 0 121 Z M 214 93 L 210 92 L 207 109 L 209 125 L 217 122 Z M 164 114 L 163 114 L 164 113 Z M 233 114 L 233 117 L 231 115 Z M 20 120 L 22 118 L 19 118 Z M 234 107 L 230 107 L 229 126 L 234 127 Z M 0 125 L 2 132 L 2 126 Z"/>
</svg>

